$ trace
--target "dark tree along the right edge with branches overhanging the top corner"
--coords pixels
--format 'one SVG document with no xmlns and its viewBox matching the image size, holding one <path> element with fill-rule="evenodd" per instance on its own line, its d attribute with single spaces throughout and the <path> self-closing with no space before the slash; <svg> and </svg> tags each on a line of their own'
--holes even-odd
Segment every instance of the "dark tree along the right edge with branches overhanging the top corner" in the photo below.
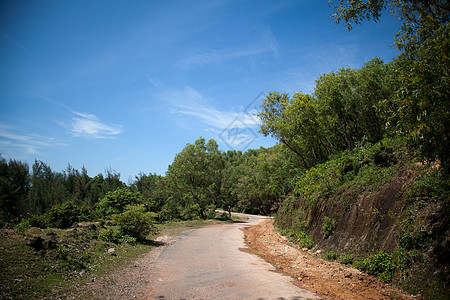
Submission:
<svg viewBox="0 0 450 300">
<path fill-rule="evenodd" d="M 330 4 L 333 1 L 330 1 Z M 440 160 L 448 174 L 449 159 L 449 20 L 446 0 L 339 0 L 333 17 L 351 30 L 364 20 L 379 21 L 389 5 L 402 21 L 395 37 L 402 52 L 395 60 L 400 81 L 392 98 L 390 124 L 418 148 L 424 159 Z"/>
</svg>

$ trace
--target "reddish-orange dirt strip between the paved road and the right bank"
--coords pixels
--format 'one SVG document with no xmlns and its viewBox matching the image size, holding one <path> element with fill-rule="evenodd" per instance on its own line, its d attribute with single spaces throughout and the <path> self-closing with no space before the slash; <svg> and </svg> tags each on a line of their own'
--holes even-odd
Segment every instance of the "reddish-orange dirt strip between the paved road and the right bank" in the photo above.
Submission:
<svg viewBox="0 0 450 300">
<path fill-rule="evenodd" d="M 252 253 L 295 278 L 296 285 L 324 299 L 416 299 L 373 276 L 294 247 L 276 232 L 272 219 L 246 227 L 244 233 Z"/>
</svg>

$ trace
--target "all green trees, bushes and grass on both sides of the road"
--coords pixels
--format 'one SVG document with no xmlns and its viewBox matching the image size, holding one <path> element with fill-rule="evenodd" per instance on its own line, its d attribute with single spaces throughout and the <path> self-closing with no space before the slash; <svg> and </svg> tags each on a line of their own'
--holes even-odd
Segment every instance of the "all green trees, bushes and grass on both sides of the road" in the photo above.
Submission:
<svg viewBox="0 0 450 300">
<path fill-rule="evenodd" d="M 403 23 L 400 54 L 323 74 L 311 94 L 268 93 L 258 117 L 279 141 L 271 148 L 223 152 L 199 138 L 164 176 L 141 173 L 128 185 L 113 170 L 90 177 L 0 158 L 2 291 L 80 276 L 115 259 L 109 248 L 146 251 L 161 224 L 222 208 L 223 220 L 276 214 L 299 247 L 428 299 L 450 297 L 448 1 L 330 5 L 349 29 L 389 6 Z"/>
</svg>

